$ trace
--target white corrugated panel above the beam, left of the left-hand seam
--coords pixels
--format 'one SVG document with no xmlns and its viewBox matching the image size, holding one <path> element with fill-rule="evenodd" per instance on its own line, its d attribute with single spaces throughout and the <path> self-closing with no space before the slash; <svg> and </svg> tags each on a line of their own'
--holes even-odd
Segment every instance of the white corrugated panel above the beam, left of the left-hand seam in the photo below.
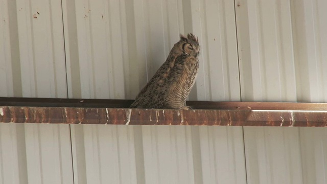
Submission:
<svg viewBox="0 0 327 184">
<path fill-rule="evenodd" d="M 66 98 L 60 2 L 0 3 L 0 96 Z"/>
</svg>

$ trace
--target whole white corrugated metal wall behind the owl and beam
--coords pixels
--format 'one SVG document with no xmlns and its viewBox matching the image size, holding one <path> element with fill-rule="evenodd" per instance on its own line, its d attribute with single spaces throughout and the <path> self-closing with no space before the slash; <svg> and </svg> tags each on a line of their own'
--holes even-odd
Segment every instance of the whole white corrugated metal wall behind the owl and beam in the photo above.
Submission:
<svg viewBox="0 0 327 184">
<path fill-rule="evenodd" d="M 0 96 L 133 99 L 179 33 L 191 100 L 327 102 L 324 0 L 0 0 Z M 0 124 L 0 183 L 325 183 L 324 128 Z"/>
</svg>

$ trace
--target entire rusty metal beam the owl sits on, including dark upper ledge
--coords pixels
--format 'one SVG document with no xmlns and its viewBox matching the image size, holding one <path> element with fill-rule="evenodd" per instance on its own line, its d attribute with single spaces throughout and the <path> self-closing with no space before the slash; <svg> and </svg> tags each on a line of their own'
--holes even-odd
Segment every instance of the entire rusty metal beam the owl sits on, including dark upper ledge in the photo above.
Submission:
<svg viewBox="0 0 327 184">
<path fill-rule="evenodd" d="M 132 100 L 0 98 L 0 122 L 327 126 L 326 103 L 190 101 L 194 110 L 128 109 Z"/>
</svg>

